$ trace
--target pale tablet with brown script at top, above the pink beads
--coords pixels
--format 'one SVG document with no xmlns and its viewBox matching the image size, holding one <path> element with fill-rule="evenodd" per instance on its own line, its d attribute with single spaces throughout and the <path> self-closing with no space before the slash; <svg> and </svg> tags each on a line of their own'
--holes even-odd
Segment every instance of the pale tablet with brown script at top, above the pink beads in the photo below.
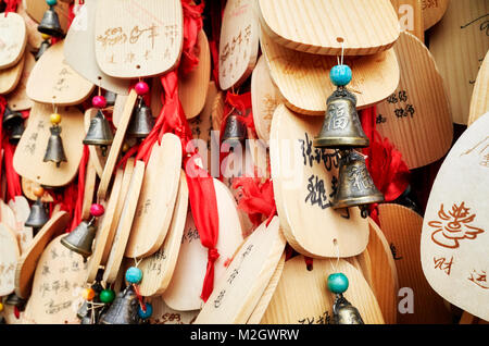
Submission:
<svg viewBox="0 0 489 346">
<path fill-rule="evenodd" d="M 177 0 L 106 0 L 97 3 L 95 47 L 110 76 L 137 78 L 173 69 L 183 47 L 183 12 Z"/>
</svg>

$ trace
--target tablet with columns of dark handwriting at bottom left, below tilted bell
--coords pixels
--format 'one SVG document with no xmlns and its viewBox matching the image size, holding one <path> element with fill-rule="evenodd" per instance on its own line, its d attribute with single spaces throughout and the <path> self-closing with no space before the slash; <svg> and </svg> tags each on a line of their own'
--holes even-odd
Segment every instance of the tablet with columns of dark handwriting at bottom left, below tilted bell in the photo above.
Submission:
<svg viewBox="0 0 489 346">
<path fill-rule="evenodd" d="M 60 243 L 62 237 L 46 247 L 37 263 L 25 323 L 79 324 L 76 313 L 84 302 L 82 289 L 87 263 Z"/>
</svg>

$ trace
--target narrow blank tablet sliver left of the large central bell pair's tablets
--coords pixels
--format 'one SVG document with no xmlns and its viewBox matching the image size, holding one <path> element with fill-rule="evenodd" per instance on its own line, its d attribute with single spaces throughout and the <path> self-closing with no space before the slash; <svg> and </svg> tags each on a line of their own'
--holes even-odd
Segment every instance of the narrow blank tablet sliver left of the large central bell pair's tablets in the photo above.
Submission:
<svg viewBox="0 0 489 346">
<path fill-rule="evenodd" d="M 284 103 L 284 97 L 272 81 L 264 55 L 260 57 L 251 75 L 251 101 L 256 135 L 268 143 L 272 116 L 277 106 Z"/>
</svg>

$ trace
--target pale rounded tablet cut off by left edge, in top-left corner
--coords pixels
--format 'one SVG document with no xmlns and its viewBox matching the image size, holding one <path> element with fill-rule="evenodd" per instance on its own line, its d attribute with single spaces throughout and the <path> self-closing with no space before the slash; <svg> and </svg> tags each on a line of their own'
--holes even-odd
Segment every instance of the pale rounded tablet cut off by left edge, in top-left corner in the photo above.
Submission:
<svg viewBox="0 0 489 346">
<path fill-rule="evenodd" d="M 27 33 L 25 22 L 15 12 L 1 13 L 0 15 L 0 70 L 11 67 L 22 59 Z"/>
</svg>

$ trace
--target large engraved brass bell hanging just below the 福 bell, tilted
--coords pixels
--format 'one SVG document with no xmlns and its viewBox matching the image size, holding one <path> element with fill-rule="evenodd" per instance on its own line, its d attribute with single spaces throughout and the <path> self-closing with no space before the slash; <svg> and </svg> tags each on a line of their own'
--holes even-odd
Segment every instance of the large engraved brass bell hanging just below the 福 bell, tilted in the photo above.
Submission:
<svg viewBox="0 0 489 346">
<path fill-rule="evenodd" d="M 360 206 L 362 217 L 367 217 L 366 205 L 384 201 L 365 165 L 365 159 L 355 150 L 340 151 L 338 189 L 333 198 L 333 208 Z"/>
</svg>

